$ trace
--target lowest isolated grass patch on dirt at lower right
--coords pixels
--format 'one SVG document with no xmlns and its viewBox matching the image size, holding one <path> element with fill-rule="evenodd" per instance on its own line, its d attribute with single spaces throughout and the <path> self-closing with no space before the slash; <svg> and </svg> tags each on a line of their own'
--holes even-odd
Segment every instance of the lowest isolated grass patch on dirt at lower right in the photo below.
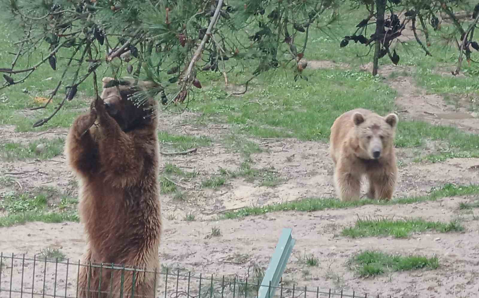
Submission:
<svg viewBox="0 0 479 298">
<path fill-rule="evenodd" d="M 360 277 L 373 277 L 388 271 L 410 271 L 417 269 L 437 269 L 437 256 L 425 255 L 390 255 L 380 251 L 365 250 L 354 255 L 351 260 L 355 271 Z"/>
</svg>

